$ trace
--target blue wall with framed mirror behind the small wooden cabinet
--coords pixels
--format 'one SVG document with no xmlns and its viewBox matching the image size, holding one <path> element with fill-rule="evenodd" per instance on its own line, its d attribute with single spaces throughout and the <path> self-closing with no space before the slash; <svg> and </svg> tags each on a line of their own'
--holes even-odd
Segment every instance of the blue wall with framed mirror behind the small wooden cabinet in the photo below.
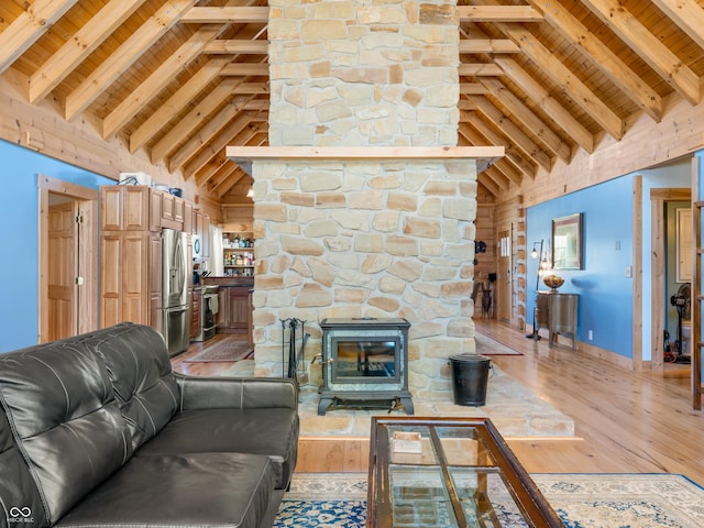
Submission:
<svg viewBox="0 0 704 528">
<path fill-rule="evenodd" d="M 632 177 L 625 176 L 534 206 L 527 211 L 526 245 L 544 240 L 548 258 L 552 219 L 583 213 L 583 270 L 556 270 L 562 293 L 580 295 L 578 340 L 632 358 Z M 632 268 L 632 267 L 631 267 Z M 527 321 L 532 324 L 538 261 L 527 256 Z M 542 280 L 540 289 L 548 289 Z M 593 339 L 588 340 L 592 330 Z"/>
</svg>

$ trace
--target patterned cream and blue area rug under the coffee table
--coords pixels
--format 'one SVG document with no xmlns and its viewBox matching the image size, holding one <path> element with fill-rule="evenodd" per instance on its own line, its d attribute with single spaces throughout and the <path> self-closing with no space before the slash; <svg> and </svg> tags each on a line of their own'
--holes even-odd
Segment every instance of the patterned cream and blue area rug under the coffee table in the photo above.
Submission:
<svg viewBox="0 0 704 528">
<path fill-rule="evenodd" d="M 673 474 L 532 474 L 566 528 L 701 528 L 704 488 Z M 502 527 L 525 527 L 490 490 Z M 366 475 L 299 473 L 274 527 L 361 528 L 366 519 Z"/>
</svg>

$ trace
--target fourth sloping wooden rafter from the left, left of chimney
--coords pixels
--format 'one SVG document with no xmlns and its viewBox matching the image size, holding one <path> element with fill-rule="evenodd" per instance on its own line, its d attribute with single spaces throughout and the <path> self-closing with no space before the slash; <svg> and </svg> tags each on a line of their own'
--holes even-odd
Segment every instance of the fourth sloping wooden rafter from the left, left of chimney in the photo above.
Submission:
<svg viewBox="0 0 704 528">
<path fill-rule="evenodd" d="M 107 140 L 128 123 L 179 72 L 202 53 L 228 26 L 205 26 L 196 31 L 176 52 L 164 61 L 130 96 L 102 120 L 102 139 Z"/>
</svg>

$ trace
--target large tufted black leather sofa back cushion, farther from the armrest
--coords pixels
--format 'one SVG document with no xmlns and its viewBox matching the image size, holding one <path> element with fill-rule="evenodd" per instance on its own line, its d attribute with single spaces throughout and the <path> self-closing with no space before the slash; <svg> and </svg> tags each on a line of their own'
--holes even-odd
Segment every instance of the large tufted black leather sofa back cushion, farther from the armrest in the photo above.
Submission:
<svg viewBox="0 0 704 528">
<path fill-rule="evenodd" d="M 0 402 L 50 524 L 132 455 L 108 371 L 84 339 L 0 354 Z"/>
</svg>

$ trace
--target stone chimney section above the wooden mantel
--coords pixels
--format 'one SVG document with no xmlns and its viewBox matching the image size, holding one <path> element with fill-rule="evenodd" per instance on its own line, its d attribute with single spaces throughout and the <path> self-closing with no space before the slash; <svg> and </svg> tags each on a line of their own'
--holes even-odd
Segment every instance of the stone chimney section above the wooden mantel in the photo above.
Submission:
<svg viewBox="0 0 704 528">
<path fill-rule="evenodd" d="M 457 145 L 454 2 L 270 1 L 270 145 Z"/>
</svg>

